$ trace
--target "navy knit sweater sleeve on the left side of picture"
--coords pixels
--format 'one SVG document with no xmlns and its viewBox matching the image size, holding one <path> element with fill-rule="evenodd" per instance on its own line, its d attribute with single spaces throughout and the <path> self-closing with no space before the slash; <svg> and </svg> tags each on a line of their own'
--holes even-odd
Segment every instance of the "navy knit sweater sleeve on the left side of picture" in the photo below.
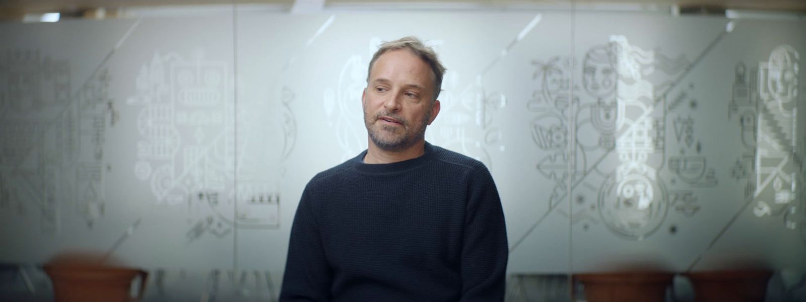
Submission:
<svg viewBox="0 0 806 302">
<path fill-rule="evenodd" d="M 331 271 L 318 230 L 310 184 L 294 215 L 280 301 L 329 301 Z"/>
</svg>

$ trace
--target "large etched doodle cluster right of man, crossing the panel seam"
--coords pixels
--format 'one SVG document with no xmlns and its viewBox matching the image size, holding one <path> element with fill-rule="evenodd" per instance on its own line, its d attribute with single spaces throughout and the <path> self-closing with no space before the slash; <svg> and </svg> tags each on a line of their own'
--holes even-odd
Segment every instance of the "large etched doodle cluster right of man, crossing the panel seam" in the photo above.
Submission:
<svg viewBox="0 0 806 302">
<path fill-rule="evenodd" d="M 559 56 L 533 61 L 538 89 L 527 109 L 535 113 L 530 124 L 535 145 L 550 152 L 536 166 L 555 181 L 549 211 L 574 224 L 584 221 L 583 230 L 602 221 L 613 234 L 632 240 L 659 230 L 669 209 L 695 215 L 700 209 L 696 196 L 680 190 L 714 186 L 716 173 L 700 155 L 702 144 L 691 118 L 671 119 L 666 126 L 667 111 L 696 110 L 693 85 L 671 94 L 692 63 L 684 56 L 670 59 L 638 48 L 621 35 L 585 53 L 580 81 L 575 81 L 580 84 L 572 86 L 574 62 Z M 667 137 L 692 155 L 668 155 Z M 666 168 L 682 176 L 672 185 L 674 192 L 688 192 L 685 198 L 667 192 L 669 184 L 660 173 Z M 556 207 L 567 199 L 567 181 L 580 194 L 570 214 Z M 585 195 L 595 196 L 595 202 Z"/>
</svg>

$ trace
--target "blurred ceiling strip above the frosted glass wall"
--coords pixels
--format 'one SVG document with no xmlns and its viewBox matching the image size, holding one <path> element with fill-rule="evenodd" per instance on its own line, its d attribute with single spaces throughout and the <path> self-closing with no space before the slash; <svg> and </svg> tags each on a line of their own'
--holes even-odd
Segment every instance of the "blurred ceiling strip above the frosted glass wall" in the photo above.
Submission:
<svg viewBox="0 0 806 302">
<path fill-rule="evenodd" d="M 579 6 L 619 7 L 619 6 L 679 6 L 681 11 L 714 12 L 724 10 L 783 10 L 806 13 L 806 0 L 0 0 L 0 19 L 22 20 L 26 14 L 60 12 L 73 18 L 98 18 L 98 8 L 105 13 L 101 17 L 114 18 L 121 10 L 132 8 L 147 9 L 167 6 L 210 6 L 210 5 L 265 5 L 279 10 L 292 10 L 296 4 L 307 7 L 358 9 L 361 7 L 451 8 L 470 9 L 517 9 L 534 6 Z"/>
</svg>

